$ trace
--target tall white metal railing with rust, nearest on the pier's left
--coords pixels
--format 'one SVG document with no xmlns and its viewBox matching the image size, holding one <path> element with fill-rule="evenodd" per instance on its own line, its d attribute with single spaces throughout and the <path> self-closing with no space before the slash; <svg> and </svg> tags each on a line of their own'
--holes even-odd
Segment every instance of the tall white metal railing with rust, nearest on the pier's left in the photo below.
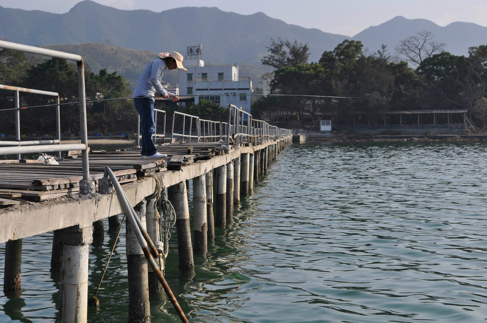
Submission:
<svg viewBox="0 0 487 323">
<path fill-rule="evenodd" d="M 78 74 L 79 128 L 81 137 L 81 144 L 48 144 L 42 146 L 29 145 L 18 147 L 0 147 L 0 155 L 81 150 L 81 157 L 83 162 L 83 179 L 90 180 L 90 166 L 88 162 L 88 132 L 86 128 L 85 71 L 83 58 L 80 55 L 76 54 L 69 54 L 35 46 L 22 45 L 5 40 L 0 40 L 0 48 L 67 59 L 76 62 Z M 16 111 L 19 111 L 19 109 L 17 109 Z"/>
</svg>

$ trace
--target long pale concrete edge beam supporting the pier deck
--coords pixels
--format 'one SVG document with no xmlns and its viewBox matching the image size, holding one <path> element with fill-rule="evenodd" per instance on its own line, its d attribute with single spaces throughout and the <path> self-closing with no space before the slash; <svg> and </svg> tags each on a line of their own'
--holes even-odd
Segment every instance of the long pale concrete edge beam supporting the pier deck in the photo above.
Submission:
<svg viewBox="0 0 487 323">
<path fill-rule="evenodd" d="M 253 147 L 240 147 L 229 154 L 215 156 L 207 161 L 200 161 L 183 166 L 181 171 L 163 172 L 163 184 L 166 187 L 186 179 L 193 179 L 210 170 L 226 165 L 243 153 L 254 154 L 274 142 Z M 137 205 L 154 192 L 155 181 L 152 178 L 139 179 L 122 185 L 131 205 Z M 75 215 L 73 210 L 76 210 Z M 0 243 L 29 236 L 68 228 L 74 225 L 92 226 L 94 221 L 124 213 L 114 192 L 85 196 L 60 197 L 37 203 L 27 203 L 0 210 Z"/>
</svg>

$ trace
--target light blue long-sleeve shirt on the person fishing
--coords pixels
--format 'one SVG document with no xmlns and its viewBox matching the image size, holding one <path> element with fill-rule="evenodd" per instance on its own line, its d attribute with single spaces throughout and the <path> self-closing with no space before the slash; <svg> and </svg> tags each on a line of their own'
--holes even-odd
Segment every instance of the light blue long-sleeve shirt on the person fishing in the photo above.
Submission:
<svg viewBox="0 0 487 323">
<path fill-rule="evenodd" d="M 139 76 L 135 89 L 133 90 L 132 97 L 136 96 L 154 96 L 155 92 L 162 95 L 175 95 L 168 92 L 161 84 L 162 75 L 168 67 L 166 61 L 162 58 L 156 58 L 151 61 L 144 71 Z M 154 98 L 151 98 L 154 101 Z"/>
</svg>

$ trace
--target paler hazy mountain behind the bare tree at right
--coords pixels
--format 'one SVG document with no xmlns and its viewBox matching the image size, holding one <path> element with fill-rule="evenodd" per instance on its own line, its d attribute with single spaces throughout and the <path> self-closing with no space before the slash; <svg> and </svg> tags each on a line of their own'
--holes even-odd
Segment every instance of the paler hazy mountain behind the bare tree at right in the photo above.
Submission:
<svg viewBox="0 0 487 323">
<path fill-rule="evenodd" d="M 467 55 L 468 47 L 487 44 L 487 27 L 471 22 L 452 22 L 442 27 L 426 19 L 407 19 L 401 16 L 369 27 L 353 36 L 360 40 L 371 51 L 380 49 L 382 44 L 393 54 L 394 47 L 401 39 L 412 36 L 417 32 L 431 31 L 436 41 L 446 43 L 446 50 L 455 55 Z"/>
</svg>

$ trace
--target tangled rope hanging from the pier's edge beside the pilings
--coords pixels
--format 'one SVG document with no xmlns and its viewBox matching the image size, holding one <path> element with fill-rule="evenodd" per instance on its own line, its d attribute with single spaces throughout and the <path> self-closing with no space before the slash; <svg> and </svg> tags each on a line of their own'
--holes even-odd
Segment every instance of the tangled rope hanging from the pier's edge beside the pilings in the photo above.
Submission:
<svg viewBox="0 0 487 323">
<path fill-rule="evenodd" d="M 170 229 L 176 224 L 176 211 L 168 199 L 166 194 L 166 186 L 162 183 L 162 173 L 147 174 L 146 177 L 151 177 L 155 180 L 154 193 L 146 197 L 146 200 L 154 199 L 154 219 L 159 219 L 159 241 L 163 243 L 162 264 L 166 269 L 166 258 L 169 253 L 169 239 L 171 238 Z M 162 215 L 162 216 L 161 216 Z M 161 254 L 159 254 L 161 260 Z M 161 261 L 159 261 L 159 269 Z M 164 270 L 163 274 L 164 274 Z"/>
</svg>

